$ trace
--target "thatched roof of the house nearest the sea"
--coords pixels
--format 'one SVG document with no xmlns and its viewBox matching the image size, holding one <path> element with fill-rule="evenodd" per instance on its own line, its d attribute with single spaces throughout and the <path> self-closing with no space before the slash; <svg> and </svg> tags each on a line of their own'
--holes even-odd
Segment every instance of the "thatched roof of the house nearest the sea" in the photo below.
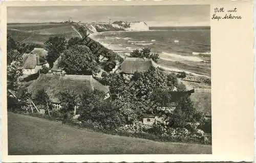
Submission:
<svg viewBox="0 0 256 163">
<path fill-rule="evenodd" d="M 119 67 L 119 72 L 134 74 L 135 72 L 145 72 L 152 66 L 156 67 L 156 63 L 152 59 L 126 57 Z"/>
</svg>

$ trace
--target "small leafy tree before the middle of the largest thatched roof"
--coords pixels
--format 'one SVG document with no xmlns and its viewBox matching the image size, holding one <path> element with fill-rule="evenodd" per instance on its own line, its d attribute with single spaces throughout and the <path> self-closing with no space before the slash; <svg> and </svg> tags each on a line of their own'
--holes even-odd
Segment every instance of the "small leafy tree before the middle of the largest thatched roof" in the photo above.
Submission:
<svg viewBox="0 0 256 163">
<path fill-rule="evenodd" d="M 78 103 L 78 95 L 75 91 L 62 90 L 58 94 L 59 101 L 62 104 L 61 112 L 63 114 L 63 122 L 69 120 L 69 115 L 75 114 L 75 107 Z M 71 113 L 72 112 L 72 113 Z"/>
</svg>

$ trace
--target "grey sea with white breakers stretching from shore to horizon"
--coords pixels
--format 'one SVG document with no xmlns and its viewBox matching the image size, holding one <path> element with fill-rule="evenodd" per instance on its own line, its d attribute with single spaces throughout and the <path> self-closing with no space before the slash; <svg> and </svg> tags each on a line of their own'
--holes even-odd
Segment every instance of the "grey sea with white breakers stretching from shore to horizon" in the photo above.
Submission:
<svg viewBox="0 0 256 163">
<path fill-rule="evenodd" d="M 149 31 L 94 33 L 92 38 L 120 55 L 150 48 L 158 53 L 158 64 L 188 73 L 210 77 L 209 27 L 151 27 Z"/>
</svg>

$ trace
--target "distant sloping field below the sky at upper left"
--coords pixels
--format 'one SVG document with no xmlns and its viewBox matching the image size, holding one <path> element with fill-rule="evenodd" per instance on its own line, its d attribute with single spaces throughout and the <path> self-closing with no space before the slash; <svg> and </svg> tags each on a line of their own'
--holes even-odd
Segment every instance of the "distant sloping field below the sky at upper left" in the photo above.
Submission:
<svg viewBox="0 0 256 163">
<path fill-rule="evenodd" d="M 15 41 L 30 42 L 44 46 L 50 36 L 63 36 L 66 39 L 79 37 L 79 35 L 65 24 L 18 24 L 8 25 L 7 33 Z"/>
</svg>

